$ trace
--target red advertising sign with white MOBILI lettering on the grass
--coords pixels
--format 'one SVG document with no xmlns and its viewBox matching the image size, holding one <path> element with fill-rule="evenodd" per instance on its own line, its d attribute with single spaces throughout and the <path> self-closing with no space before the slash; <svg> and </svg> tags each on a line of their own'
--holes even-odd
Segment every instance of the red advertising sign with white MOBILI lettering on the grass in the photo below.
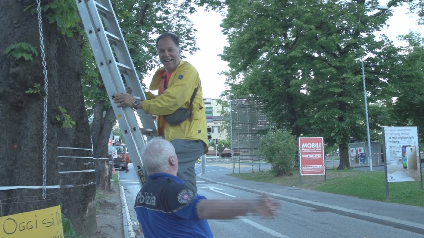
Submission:
<svg viewBox="0 0 424 238">
<path fill-rule="evenodd" d="M 299 137 L 300 175 L 325 174 L 324 138 Z"/>
</svg>

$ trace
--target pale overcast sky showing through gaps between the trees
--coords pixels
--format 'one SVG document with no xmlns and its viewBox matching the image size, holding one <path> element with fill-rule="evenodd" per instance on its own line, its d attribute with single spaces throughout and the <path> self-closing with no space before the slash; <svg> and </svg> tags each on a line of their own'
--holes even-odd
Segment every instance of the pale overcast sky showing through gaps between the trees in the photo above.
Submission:
<svg viewBox="0 0 424 238">
<path fill-rule="evenodd" d="M 387 0 L 381 0 L 380 5 L 387 4 Z M 393 17 L 388 20 L 389 27 L 382 30 L 396 46 L 404 43 L 396 40 L 396 36 L 403 35 L 409 30 L 424 30 L 423 26 L 416 25 L 418 17 L 407 14 L 406 6 L 391 9 Z M 378 11 L 378 10 L 375 10 Z M 196 33 L 197 45 L 200 48 L 193 55 L 185 54 L 187 61 L 196 67 L 202 81 L 204 98 L 219 98 L 221 92 L 225 90 L 225 77 L 218 75 L 222 71 L 228 70 L 227 63 L 222 61 L 218 54 L 221 54 L 223 47 L 228 45 L 226 36 L 221 32 L 220 23 L 223 17 L 214 11 L 203 11 L 198 9 L 195 14 L 189 16 L 198 30 Z"/>
</svg>

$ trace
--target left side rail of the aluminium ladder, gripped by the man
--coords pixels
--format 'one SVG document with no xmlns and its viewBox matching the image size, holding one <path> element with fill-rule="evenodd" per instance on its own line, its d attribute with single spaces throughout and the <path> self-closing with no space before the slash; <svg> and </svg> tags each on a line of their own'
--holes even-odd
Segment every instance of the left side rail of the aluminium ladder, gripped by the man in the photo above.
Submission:
<svg viewBox="0 0 424 238">
<path fill-rule="evenodd" d="M 93 1 L 89 2 L 93 3 Z M 100 75 L 102 76 L 103 83 L 105 84 L 106 91 L 109 95 L 109 100 L 112 102 L 112 105 L 114 105 L 112 95 L 125 91 L 125 86 L 117 64 L 115 64 L 114 55 L 112 54 L 109 41 L 103 30 L 103 25 L 100 22 L 97 10 L 94 13 L 89 12 L 84 3 L 78 3 L 78 9 L 84 24 L 84 29 L 86 30 L 89 42 L 92 46 L 92 50 L 100 70 Z M 139 181 L 141 184 L 144 184 L 147 178 L 145 177 L 147 173 L 145 172 L 140 158 L 141 149 L 144 147 L 144 138 L 139 131 L 134 111 L 129 107 L 117 108 L 116 106 L 113 107 L 113 110 L 118 122 L 120 123 L 120 129 L 127 143 L 128 151 L 134 158 L 133 161 L 136 162 L 134 166 L 137 165 L 136 170 Z"/>
</svg>

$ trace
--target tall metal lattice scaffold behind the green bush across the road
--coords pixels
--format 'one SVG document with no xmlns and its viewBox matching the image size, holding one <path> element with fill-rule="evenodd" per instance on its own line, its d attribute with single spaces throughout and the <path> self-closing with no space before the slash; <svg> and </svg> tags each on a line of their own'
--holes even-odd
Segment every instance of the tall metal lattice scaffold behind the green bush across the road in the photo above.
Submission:
<svg viewBox="0 0 424 238">
<path fill-rule="evenodd" d="M 267 129 L 272 125 L 269 116 L 263 112 L 265 103 L 252 99 L 237 99 L 230 97 L 230 123 L 231 123 L 231 155 L 233 173 L 236 161 L 259 161 L 257 150 L 259 147 L 258 131 Z M 260 166 L 259 166 L 260 171 Z"/>
</svg>

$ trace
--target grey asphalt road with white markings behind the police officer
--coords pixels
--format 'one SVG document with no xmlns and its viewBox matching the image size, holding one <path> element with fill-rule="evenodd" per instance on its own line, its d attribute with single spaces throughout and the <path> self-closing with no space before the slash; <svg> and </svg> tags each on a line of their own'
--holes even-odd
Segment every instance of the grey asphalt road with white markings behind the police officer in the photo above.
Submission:
<svg viewBox="0 0 424 238">
<path fill-rule="evenodd" d="M 123 171 L 119 171 L 119 173 L 120 184 L 128 204 L 130 221 L 134 222 L 137 221 L 137 216 L 133 205 L 140 185 L 134 169 L 130 168 L 129 173 L 124 173 Z M 240 166 L 241 171 L 251 169 L 251 164 Z M 206 173 L 229 174 L 232 173 L 232 164 L 209 163 L 205 166 L 205 170 Z M 254 170 L 258 171 L 257 164 L 254 164 Z M 201 173 L 200 164 L 196 164 L 196 172 Z M 207 198 L 230 199 L 256 196 L 247 191 L 199 179 L 197 185 L 198 193 L 205 195 Z M 279 217 L 275 220 L 268 221 L 248 216 L 230 221 L 209 221 L 209 225 L 216 238 L 422 238 L 422 235 L 417 233 L 324 212 L 290 202 L 282 201 L 281 204 Z M 142 235 L 138 232 L 138 225 L 131 225 L 131 227 L 134 230 L 135 237 L 141 238 Z"/>
</svg>

